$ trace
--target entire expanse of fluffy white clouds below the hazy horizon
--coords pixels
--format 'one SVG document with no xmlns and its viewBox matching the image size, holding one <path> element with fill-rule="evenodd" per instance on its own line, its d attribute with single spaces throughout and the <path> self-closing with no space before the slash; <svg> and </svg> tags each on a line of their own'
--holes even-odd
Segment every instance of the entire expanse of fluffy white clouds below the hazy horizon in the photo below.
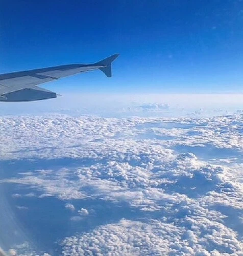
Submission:
<svg viewBox="0 0 243 256">
<path fill-rule="evenodd" d="M 5 117 L 1 159 L 22 169 L 0 183 L 63 200 L 71 221 L 91 214 L 70 200 L 126 205 L 126 219 L 63 239 L 64 255 L 240 255 L 242 123 L 241 114 Z"/>
</svg>

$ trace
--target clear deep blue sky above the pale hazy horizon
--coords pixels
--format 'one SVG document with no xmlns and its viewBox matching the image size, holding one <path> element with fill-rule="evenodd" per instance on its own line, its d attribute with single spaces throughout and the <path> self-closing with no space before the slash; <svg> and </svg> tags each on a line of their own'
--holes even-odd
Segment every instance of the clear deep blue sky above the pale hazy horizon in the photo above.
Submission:
<svg viewBox="0 0 243 256">
<path fill-rule="evenodd" d="M 243 2 L 3 0 L 0 73 L 120 53 L 113 78 L 45 84 L 85 92 L 243 92 Z"/>
</svg>

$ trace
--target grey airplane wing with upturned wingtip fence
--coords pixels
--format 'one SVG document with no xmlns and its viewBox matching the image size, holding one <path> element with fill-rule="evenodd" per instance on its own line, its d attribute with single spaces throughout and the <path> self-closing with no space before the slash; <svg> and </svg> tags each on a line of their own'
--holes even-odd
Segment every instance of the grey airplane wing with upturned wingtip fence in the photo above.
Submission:
<svg viewBox="0 0 243 256">
<path fill-rule="evenodd" d="M 0 74 L 0 101 L 16 102 L 56 98 L 56 93 L 38 87 L 38 85 L 97 69 L 105 73 L 107 77 L 111 77 L 111 62 L 118 56 L 119 54 L 114 54 L 91 64 L 71 64 Z"/>
</svg>

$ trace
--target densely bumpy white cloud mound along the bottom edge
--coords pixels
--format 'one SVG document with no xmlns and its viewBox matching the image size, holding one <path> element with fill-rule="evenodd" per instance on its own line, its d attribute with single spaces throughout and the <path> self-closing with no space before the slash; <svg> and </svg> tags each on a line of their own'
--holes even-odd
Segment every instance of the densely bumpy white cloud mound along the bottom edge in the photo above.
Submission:
<svg viewBox="0 0 243 256">
<path fill-rule="evenodd" d="M 225 232 L 219 233 L 216 231 L 217 228 Z M 229 253 L 241 252 L 242 245 L 235 239 L 232 231 L 222 230 L 220 226 L 211 226 L 211 230 L 205 231 L 206 234 L 203 235 L 197 230 L 186 230 L 176 223 L 164 223 L 159 220 L 144 223 L 123 219 L 115 224 L 100 226 L 80 236 L 65 238 L 61 243 L 62 253 L 63 255 L 229 255 L 223 252 L 223 248 Z M 213 245 L 205 243 L 205 237 L 212 237 L 211 232 L 217 236 Z"/>
</svg>

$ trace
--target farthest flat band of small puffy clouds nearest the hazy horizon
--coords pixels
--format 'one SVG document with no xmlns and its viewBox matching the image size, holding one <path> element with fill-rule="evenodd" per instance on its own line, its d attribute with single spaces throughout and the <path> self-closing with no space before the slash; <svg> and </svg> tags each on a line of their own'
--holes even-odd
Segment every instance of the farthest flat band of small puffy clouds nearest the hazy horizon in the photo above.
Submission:
<svg viewBox="0 0 243 256">
<path fill-rule="evenodd" d="M 152 140 L 156 135 L 173 136 L 170 140 L 157 140 L 163 147 L 209 145 L 212 150 L 232 149 L 233 154 L 243 149 L 242 134 L 239 132 L 242 119 L 240 114 L 217 118 L 6 117 L 0 118 L 1 159 L 93 158 L 100 152 L 93 151 L 89 142 L 100 144 L 105 150 L 106 143 L 115 146 L 116 139 L 141 134 Z M 6 144 L 8 147 L 4 146 Z"/>
</svg>

